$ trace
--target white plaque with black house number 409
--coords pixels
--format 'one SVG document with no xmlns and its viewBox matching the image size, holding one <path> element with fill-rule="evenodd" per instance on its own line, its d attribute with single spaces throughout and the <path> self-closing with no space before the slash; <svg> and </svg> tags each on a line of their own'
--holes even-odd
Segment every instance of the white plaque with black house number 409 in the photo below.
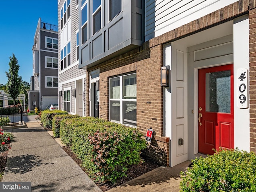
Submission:
<svg viewBox="0 0 256 192">
<path fill-rule="evenodd" d="M 238 107 L 248 108 L 248 69 L 238 69 Z"/>
</svg>

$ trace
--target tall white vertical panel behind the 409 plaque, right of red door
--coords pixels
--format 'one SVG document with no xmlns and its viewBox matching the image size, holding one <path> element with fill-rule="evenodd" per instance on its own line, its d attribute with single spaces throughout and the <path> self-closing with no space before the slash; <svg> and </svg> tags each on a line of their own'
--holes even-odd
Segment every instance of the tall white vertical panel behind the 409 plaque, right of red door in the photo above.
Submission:
<svg viewBox="0 0 256 192">
<path fill-rule="evenodd" d="M 250 151 L 250 107 L 240 109 L 237 74 L 239 68 L 249 70 L 249 19 L 248 15 L 234 20 L 234 144 L 235 148 Z M 239 93 L 239 94 L 238 94 Z M 249 100 L 249 98 L 248 98 Z"/>
</svg>

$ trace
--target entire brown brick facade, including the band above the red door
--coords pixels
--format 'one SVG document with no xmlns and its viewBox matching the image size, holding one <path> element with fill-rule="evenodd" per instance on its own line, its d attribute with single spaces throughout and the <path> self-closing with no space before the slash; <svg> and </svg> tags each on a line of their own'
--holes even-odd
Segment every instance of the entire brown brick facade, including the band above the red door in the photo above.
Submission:
<svg viewBox="0 0 256 192">
<path fill-rule="evenodd" d="M 163 94 L 160 86 L 162 44 L 205 30 L 249 13 L 250 19 L 250 150 L 256 152 L 256 0 L 239 0 L 229 6 L 202 16 L 161 36 L 145 42 L 142 47 L 94 66 L 100 68 L 100 118 L 109 120 L 109 77 L 129 72 L 137 74 L 137 128 L 146 136 L 154 130 L 148 154 L 161 164 L 169 164 L 169 138 L 163 136 Z M 87 78 L 89 86 L 89 78 Z M 88 94 L 88 93 L 87 93 Z M 87 106 L 87 114 L 89 107 Z"/>
</svg>

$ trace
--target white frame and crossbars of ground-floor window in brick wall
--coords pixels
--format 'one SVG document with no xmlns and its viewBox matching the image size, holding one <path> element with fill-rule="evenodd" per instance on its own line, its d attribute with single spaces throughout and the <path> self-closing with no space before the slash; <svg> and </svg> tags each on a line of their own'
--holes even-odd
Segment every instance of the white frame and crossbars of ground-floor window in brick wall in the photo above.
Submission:
<svg viewBox="0 0 256 192">
<path fill-rule="evenodd" d="M 126 75 L 121 75 L 121 76 L 116 76 L 116 77 L 113 77 L 113 78 L 120 78 L 120 98 L 119 99 L 113 99 L 113 98 L 110 98 L 110 95 L 109 95 L 109 120 L 110 120 L 110 101 L 118 101 L 120 102 L 120 122 L 119 121 L 115 121 L 115 120 L 110 120 L 112 122 L 116 122 L 116 123 L 120 123 L 120 124 L 123 124 L 123 125 L 126 125 L 126 126 L 130 126 L 130 127 L 137 127 L 137 122 L 136 122 L 136 126 L 134 125 L 131 125 L 131 124 L 124 124 L 123 122 L 123 101 L 130 101 L 130 102 L 136 102 L 137 103 L 137 96 L 136 96 L 136 99 L 124 99 L 123 98 L 123 77 L 124 76 L 128 76 L 128 75 L 133 75 L 133 74 L 136 74 L 136 73 L 132 73 L 132 74 L 126 74 Z M 137 76 L 137 74 L 136 74 Z M 109 78 L 109 87 L 108 89 L 110 90 L 110 80 L 113 79 L 113 78 Z M 136 86 L 137 86 L 137 83 L 136 83 Z M 110 94 L 110 91 L 109 91 L 109 94 Z"/>
</svg>

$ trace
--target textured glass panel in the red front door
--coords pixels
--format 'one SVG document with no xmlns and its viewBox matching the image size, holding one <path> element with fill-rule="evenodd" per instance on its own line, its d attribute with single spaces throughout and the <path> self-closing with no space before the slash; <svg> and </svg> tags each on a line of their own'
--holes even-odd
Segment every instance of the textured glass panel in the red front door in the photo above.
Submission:
<svg viewBox="0 0 256 192">
<path fill-rule="evenodd" d="M 230 113 L 230 70 L 206 73 L 206 111 Z"/>
</svg>

